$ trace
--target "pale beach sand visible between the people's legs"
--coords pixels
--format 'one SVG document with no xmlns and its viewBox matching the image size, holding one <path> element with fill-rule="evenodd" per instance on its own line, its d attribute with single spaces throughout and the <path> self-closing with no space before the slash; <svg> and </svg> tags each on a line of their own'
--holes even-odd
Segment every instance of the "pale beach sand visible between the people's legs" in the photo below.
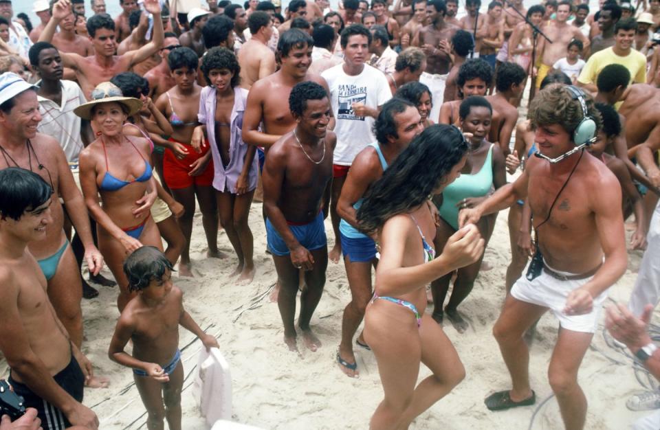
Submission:
<svg viewBox="0 0 660 430">
<path fill-rule="evenodd" d="M 365 429 L 376 405 L 382 399 L 382 387 L 375 358 L 371 352 L 356 349 L 359 379 L 351 379 L 341 372 L 335 361 L 340 341 L 341 317 L 349 302 L 344 265 L 329 264 L 325 293 L 312 319 L 323 346 L 318 352 L 305 350 L 303 357 L 289 352 L 283 343 L 283 328 L 276 304 L 265 297 L 260 307 L 245 312 L 253 297 L 261 295 L 276 280 L 272 258 L 264 253 L 265 230 L 261 220 L 261 204 L 252 205 L 250 220 L 254 233 L 255 262 L 258 264 L 254 282 L 249 286 L 236 285 L 229 273 L 236 258 L 230 260 L 205 259 L 206 243 L 201 218 L 195 218 L 192 239 L 192 258 L 195 260 L 195 279 L 176 278 L 175 284 L 184 292 L 186 309 L 202 328 L 217 333 L 225 358 L 232 366 L 234 420 L 264 429 Z M 487 394 L 509 387 L 509 376 L 500 357 L 496 341 L 491 335 L 492 325 L 499 315 L 505 297 L 505 270 L 509 262 L 507 214 L 497 220 L 486 260 L 494 269 L 482 272 L 472 294 L 461 305 L 461 311 L 472 320 L 472 327 L 459 335 L 450 324 L 445 331 L 454 342 L 467 370 L 467 377 L 454 392 L 422 414 L 415 429 L 526 429 L 535 407 L 492 413 L 483 405 Z M 332 240 L 329 220 L 326 221 L 329 240 Z M 221 233 L 221 249 L 230 253 L 230 244 Z M 638 267 L 641 253 L 629 253 L 629 267 Z M 635 274 L 626 272 L 610 295 L 627 301 Z M 85 338 L 83 350 L 94 362 L 98 374 L 109 375 L 109 389 L 87 389 L 85 404 L 93 407 L 101 422 L 101 429 L 138 429 L 144 425 L 144 407 L 133 383 L 131 370 L 111 362 L 107 349 L 118 311 L 115 307 L 117 290 L 100 287 L 100 296 L 83 301 Z M 427 312 L 432 309 L 429 308 Z M 538 325 L 538 335 L 531 350 L 531 382 L 538 396 L 537 406 L 551 394 L 547 382 L 547 366 L 556 339 L 557 321 L 544 316 Z M 181 329 L 180 346 L 192 341 L 192 335 Z M 588 429 L 625 429 L 643 412 L 626 409 L 626 398 L 641 385 L 635 379 L 630 360 L 608 348 L 599 331 L 593 346 L 626 365 L 610 363 L 601 353 L 590 350 L 584 357 L 580 383 L 589 402 Z M 190 372 L 197 363 L 201 343 L 195 341 L 181 354 L 184 371 Z M 422 365 L 420 378 L 429 374 Z M 5 372 L 6 375 L 6 372 Z M 192 400 L 192 377 L 184 383 L 184 429 L 203 429 L 197 407 Z M 561 418 L 557 403 L 549 400 L 540 407 L 533 429 L 560 429 Z"/>
</svg>

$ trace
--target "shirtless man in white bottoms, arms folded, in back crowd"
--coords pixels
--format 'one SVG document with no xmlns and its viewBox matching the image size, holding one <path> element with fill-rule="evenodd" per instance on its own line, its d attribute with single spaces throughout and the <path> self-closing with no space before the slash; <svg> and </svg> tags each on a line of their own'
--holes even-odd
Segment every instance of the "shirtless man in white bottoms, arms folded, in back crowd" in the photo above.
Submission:
<svg viewBox="0 0 660 430">
<path fill-rule="evenodd" d="M 445 93 L 445 82 L 451 69 L 450 39 L 459 27 L 445 23 L 447 6 L 443 0 L 426 2 L 426 16 L 429 25 L 419 30 L 419 47 L 426 54 L 426 71 L 421 73 L 419 82 L 431 91 L 433 108 L 429 117 L 434 120 L 440 114 L 440 106 Z"/>
</svg>

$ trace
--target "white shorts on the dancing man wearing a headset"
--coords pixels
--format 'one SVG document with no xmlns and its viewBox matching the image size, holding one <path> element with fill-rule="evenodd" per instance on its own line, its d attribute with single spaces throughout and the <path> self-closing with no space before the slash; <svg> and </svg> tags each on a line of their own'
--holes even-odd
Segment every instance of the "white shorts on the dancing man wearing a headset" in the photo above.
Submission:
<svg viewBox="0 0 660 430">
<path fill-rule="evenodd" d="M 560 275 L 571 276 L 575 273 L 568 273 L 555 270 Z M 526 273 L 526 272 L 525 272 Z M 607 295 L 602 293 L 593 299 L 593 309 L 591 313 L 585 315 L 566 315 L 564 314 L 564 306 L 566 306 L 566 297 L 575 288 L 580 288 L 591 280 L 593 276 L 581 280 L 562 281 L 553 278 L 551 275 L 543 270 L 540 275 L 533 281 L 528 281 L 527 277 L 523 274 L 511 288 L 511 295 L 520 300 L 520 302 L 527 302 L 549 308 L 552 313 L 559 319 L 559 324 L 574 332 L 587 332 L 593 333 L 598 326 L 598 317 L 602 309 L 603 302 Z"/>
</svg>

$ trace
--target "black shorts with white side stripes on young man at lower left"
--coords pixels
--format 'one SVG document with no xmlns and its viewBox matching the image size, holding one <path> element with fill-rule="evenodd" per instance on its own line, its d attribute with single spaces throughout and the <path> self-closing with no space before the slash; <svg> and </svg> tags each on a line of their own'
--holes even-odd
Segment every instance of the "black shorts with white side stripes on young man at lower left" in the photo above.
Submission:
<svg viewBox="0 0 660 430">
<path fill-rule="evenodd" d="M 78 361 L 76 361 L 73 355 L 71 356 L 69 365 L 53 376 L 53 379 L 78 402 L 83 402 L 85 375 L 83 374 L 83 370 L 80 370 Z M 23 396 L 26 408 L 34 407 L 36 409 L 37 416 L 41 419 L 41 427 L 44 430 L 61 430 L 71 427 L 71 423 L 60 409 L 57 409 L 54 405 L 34 394 L 27 385 L 14 381 L 11 374 L 9 375 L 9 384 L 14 388 L 14 393 Z"/>
</svg>

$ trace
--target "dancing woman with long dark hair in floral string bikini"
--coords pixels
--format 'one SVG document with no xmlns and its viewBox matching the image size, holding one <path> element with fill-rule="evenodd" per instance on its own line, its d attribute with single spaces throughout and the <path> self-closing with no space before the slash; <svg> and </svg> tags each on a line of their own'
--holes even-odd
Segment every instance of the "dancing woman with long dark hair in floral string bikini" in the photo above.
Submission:
<svg viewBox="0 0 660 430">
<path fill-rule="evenodd" d="M 478 230 L 467 225 L 434 258 L 436 227 L 426 199 L 459 177 L 466 152 L 458 128 L 426 128 L 373 184 L 358 210 L 360 228 L 378 234 L 381 247 L 375 293 L 364 315 L 364 339 L 385 394 L 371 429 L 408 428 L 465 376 L 451 341 L 424 310 L 429 282 L 472 264 L 483 252 Z M 433 374 L 415 387 L 420 362 Z"/>
</svg>

